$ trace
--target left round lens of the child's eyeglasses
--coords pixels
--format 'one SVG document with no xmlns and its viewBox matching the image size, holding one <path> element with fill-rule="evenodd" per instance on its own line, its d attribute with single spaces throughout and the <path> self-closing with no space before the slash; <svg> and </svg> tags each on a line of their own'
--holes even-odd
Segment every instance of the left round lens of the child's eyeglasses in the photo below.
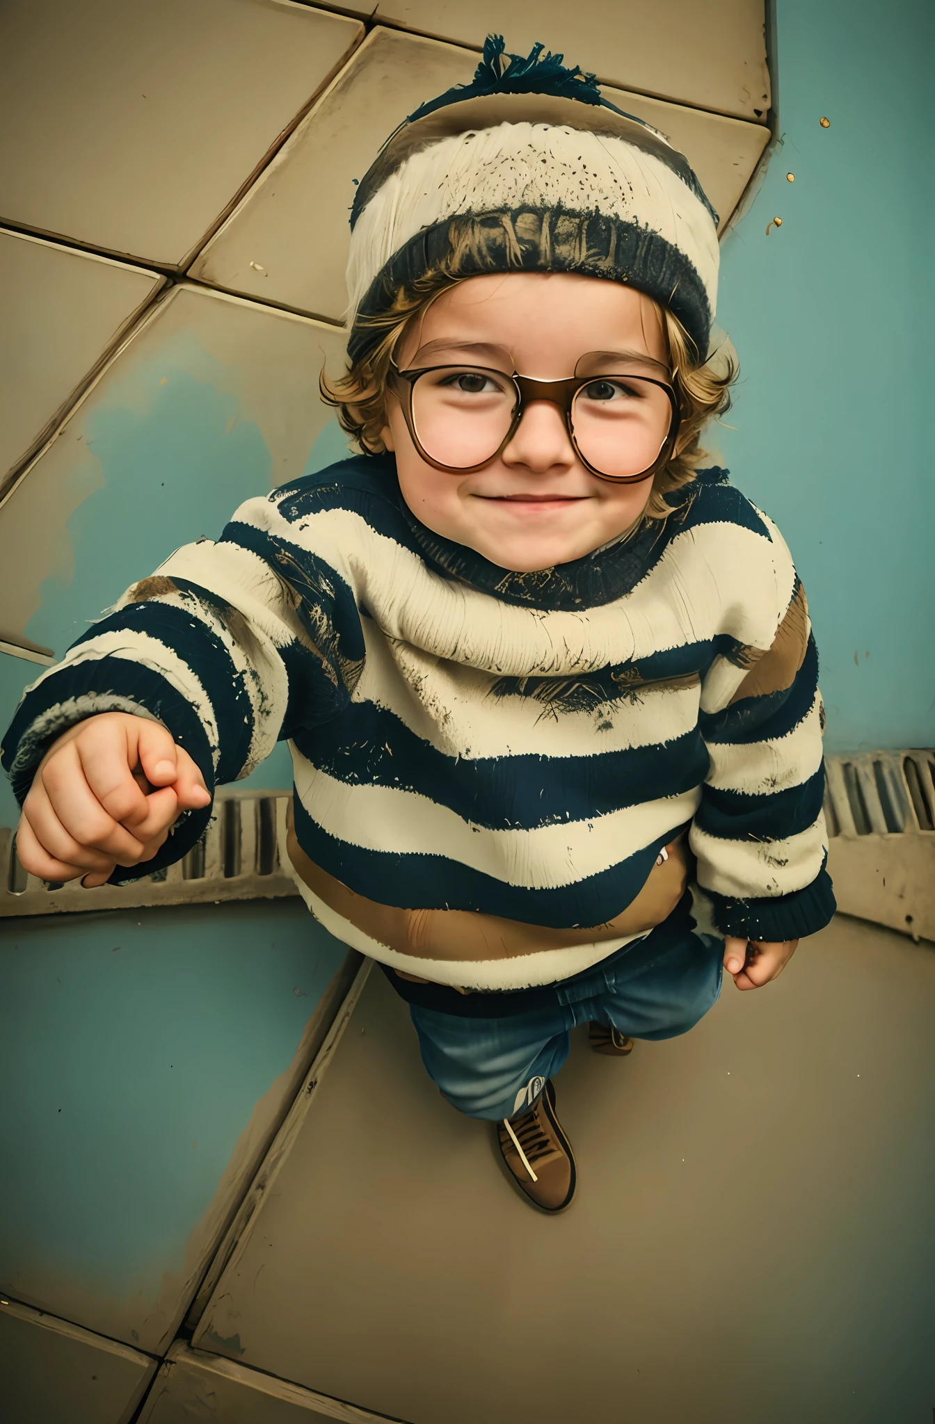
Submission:
<svg viewBox="0 0 935 1424">
<path fill-rule="evenodd" d="M 516 386 L 500 372 L 443 366 L 413 382 L 412 424 L 428 456 L 469 470 L 497 453 L 516 402 Z"/>
</svg>

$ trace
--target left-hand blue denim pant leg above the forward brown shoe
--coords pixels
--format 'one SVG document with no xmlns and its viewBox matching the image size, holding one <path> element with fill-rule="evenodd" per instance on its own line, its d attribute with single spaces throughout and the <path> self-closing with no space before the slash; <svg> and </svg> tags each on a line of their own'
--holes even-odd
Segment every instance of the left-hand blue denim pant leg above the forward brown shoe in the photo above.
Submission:
<svg viewBox="0 0 935 1424">
<path fill-rule="evenodd" d="M 409 1005 L 422 1062 L 442 1096 L 469 1118 L 522 1112 L 569 1055 L 572 1015 L 556 1004 L 505 1018 L 459 1018 Z"/>
</svg>

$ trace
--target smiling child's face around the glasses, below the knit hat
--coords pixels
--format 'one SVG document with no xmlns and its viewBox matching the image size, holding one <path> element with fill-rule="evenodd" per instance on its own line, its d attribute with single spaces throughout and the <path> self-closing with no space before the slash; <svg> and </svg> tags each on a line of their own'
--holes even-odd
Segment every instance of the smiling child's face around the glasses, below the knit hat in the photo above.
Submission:
<svg viewBox="0 0 935 1424">
<path fill-rule="evenodd" d="M 401 370 L 468 363 L 559 380 L 590 370 L 668 379 L 658 308 L 641 292 L 564 272 L 476 276 L 446 290 L 396 352 Z M 530 572 L 582 558 L 623 534 L 653 487 L 611 484 L 579 460 L 560 409 L 527 406 L 506 449 L 475 474 L 448 474 L 418 453 L 395 394 L 383 440 L 396 453 L 402 496 L 436 534 L 500 568 Z"/>
</svg>

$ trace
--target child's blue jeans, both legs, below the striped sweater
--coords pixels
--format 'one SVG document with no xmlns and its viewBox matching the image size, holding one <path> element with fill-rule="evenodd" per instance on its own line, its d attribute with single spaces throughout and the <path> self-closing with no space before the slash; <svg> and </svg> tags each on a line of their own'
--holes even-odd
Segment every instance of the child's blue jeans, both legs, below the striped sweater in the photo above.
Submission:
<svg viewBox="0 0 935 1424">
<path fill-rule="evenodd" d="M 724 943 L 690 930 L 670 944 L 658 938 L 556 984 L 552 1007 L 460 1018 L 410 1004 L 430 1078 L 459 1112 L 496 1122 L 534 1102 L 567 1058 L 576 1024 L 596 1021 L 630 1038 L 687 1032 L 721 991 Z"/>
</svg>

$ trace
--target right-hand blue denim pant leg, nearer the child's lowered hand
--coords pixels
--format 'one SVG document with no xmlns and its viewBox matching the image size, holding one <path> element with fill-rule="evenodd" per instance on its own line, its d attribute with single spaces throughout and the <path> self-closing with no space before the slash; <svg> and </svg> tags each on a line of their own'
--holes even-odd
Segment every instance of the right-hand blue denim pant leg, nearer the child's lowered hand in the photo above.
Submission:
<svg viewBox="0 0 935 1424">
<path fill-rule="evenodd" d="M 650 948 L 647 941 L 647 950 Z M 721 993 L 724 941 L 688 933 L 661 951 L 624 956 L 607 971 L 603 993 L 574 1005 L 630 1038 L 676 1038 L 688 1032 Z"/>
</svg>

